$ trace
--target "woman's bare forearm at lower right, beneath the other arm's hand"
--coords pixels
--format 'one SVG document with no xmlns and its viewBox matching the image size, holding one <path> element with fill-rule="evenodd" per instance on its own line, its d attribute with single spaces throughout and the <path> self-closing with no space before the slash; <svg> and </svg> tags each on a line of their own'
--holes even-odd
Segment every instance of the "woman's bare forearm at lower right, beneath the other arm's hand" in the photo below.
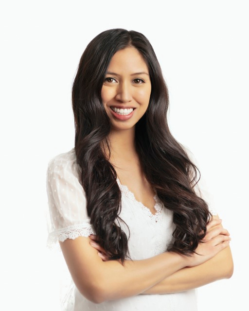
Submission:
<svg viewBox="0 0 249 311">
<path fill-rule="evenodd" d="M 164 278 L 142 294 L 170 294 L 194 289 L 222 278 L 231 277 L 233 261 L 230 247 L 212 259 L 190 268 L 183 268 Z"/>
</svg>

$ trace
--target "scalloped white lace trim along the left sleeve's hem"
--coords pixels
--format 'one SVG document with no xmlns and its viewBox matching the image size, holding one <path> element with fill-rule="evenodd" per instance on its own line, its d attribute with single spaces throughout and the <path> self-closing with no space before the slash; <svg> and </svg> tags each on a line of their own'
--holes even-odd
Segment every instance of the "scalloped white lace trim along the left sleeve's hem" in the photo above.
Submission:
<svg viewBox="0 0 249 311">
<path fill-rule="evenodd" d="M 64 242 L 66 239 L 76 239 L 80 236 L 89 237 L 90 234 L 94 234 L 91 226 L 86 225 L 71 225 L 66 228 L 58 229 L 51 232 L 48 236 L 47 245 L 52 247 L 56 242 Z"/>
</svg>

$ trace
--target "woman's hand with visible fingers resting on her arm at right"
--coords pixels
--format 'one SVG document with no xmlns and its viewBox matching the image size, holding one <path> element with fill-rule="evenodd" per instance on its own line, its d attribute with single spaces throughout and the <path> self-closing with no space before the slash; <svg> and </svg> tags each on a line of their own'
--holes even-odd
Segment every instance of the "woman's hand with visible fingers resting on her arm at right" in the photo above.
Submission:
<svg viewBox="0 0 249 311">
<path fill-rule="evenodd" d="M 207 233 L 204 239 L 199 242 L 196 253 L 192 256 L 185 256 L 187 267 L 197 266 L 213 258 L 221 250 L 229 246 L 231 241 L 230 233 L 221 225 L 221 219 L 213 216 L 213 220 L 207 225 Z"/>
</svg>

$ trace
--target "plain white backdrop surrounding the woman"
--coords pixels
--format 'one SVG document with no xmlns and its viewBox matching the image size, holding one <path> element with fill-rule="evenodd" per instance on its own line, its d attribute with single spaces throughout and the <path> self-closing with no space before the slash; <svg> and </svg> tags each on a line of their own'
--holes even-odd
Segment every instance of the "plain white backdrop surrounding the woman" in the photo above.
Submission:
<svg viewBox="0 0 249 311">
<path fill-rule="evenodd" d="M 64 263 L 46 248 L 47 164 L 73 147 L 73 78 L 89 41 L 110 28 L 150 40 L 169 88 L 171 131 L 195 155 L 231 233 L 234 274 L 198 290 L 199 311 L 248 310 L 247 2 L 2 2 L 3 310 L 60 310 Z"/>
</svg>

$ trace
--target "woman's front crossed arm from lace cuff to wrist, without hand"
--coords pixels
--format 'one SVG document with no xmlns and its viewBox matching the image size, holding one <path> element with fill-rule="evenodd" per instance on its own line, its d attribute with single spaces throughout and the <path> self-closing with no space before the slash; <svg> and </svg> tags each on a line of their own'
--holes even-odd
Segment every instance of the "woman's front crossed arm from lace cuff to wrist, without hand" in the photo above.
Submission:
<svg viewBox="0 0 249 311">
<path fill-rule="evenodd" d="M 60 244 L 75 285 L 95 303 L 141 294 L 188 263 L 185 256 L 165 252 L 122 265 L 120 260 L 102 261 L 88 238 Z"/>
</svg>

